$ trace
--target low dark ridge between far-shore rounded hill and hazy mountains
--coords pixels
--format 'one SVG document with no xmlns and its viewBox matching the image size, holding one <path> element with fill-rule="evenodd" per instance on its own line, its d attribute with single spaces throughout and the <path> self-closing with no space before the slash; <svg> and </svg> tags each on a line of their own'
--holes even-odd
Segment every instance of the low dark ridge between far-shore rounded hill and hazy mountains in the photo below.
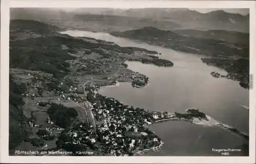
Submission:
<svg viewBox="0 0 256 164">
<path fill-rule="evenodd" d="M 230 43 L 246 44 L 249 45 L 249 34 L 236 32 L 236 31 L 226 31 L 226 30 L 175 30 L 175 33 L 183 36 L 194 36 L 209 39 L 224 40 Z"/>
</svg>

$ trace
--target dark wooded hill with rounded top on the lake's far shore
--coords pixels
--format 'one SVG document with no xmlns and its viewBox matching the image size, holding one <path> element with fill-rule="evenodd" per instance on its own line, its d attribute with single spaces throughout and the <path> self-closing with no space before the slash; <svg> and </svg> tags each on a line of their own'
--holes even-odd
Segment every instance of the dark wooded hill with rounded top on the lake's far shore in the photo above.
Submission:
<svg viewBox="0 0 256 164">
<path fill-rule="evenodd" d="M 144 27 L 125 32 L 112 32 L 113 36 L 132 38 L 150 44 L 164 46 L 177 51 L 211 56 L 239 56 L 248 57 L 248 45 L 232 44 L 223 40 L 182 36 L 172 31 Z"/>
</svg>

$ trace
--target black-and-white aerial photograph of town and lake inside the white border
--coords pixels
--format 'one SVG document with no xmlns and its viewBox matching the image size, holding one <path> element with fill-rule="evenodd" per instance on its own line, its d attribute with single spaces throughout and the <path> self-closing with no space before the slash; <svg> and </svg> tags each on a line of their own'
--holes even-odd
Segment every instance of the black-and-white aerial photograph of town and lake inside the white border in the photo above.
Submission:
<svg viewBox="0 0 256 164">
<path fill-rule="evenodd" d="M 10 8 L 10 156 L 249 156 L 249 9 Z"/>
</svg>

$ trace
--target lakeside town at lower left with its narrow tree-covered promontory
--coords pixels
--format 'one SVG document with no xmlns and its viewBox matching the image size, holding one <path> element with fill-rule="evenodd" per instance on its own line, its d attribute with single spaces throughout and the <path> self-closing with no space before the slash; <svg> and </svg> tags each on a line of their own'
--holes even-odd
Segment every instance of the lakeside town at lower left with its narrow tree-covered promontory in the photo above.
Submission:
<svg viewBox="0 0 256 164">
<path fill-rule="evenodd" d="M 69 79 L 57 82 L 54 78 L 43 78 L 39 73 L 25 74 L 34 76 L 37 83 L 36 86 L 27 83 L 31 90 L 23 96 L 31 99 L 31 106 L 45 108 L 47 110 L 44 112 L 49 114 L 43 124 L 38 124 L 36 114 L 33 114 L 37 111 L 32 111 L 31 119 L 28 120 L 32 128 L 38 129 L 36 135 L 39 138 L 27 138 L 26 142 L 31 142 L 42 150 L 52 149 L 47 141 L 55 140 L 58 148 L 72 152 L 90 150 L 97 152 L 94 155 L 116 156 L 143 154 L 144 151 L 155 151 L 163 145 L 161 139 L 146 128 L 147 125 L 177 119 L 193 120 L 189 113 L 146 111 L 124 105 L 112 98 L 101 96 L 97 93 L 100 86 L 92 83 L 86 85 L 82 91 L 79 85 Z M 50 90 L 54 94 L 52 98 L 55 99 L 40 98 L 42 95 L 48 95 Z M 90 102 L 89 109 L 84 109 L 88 107 L 84 105 L 86 101 Z M 61 104 L 73 104 L 77 107 L 65 107 Z"/>
</svg>

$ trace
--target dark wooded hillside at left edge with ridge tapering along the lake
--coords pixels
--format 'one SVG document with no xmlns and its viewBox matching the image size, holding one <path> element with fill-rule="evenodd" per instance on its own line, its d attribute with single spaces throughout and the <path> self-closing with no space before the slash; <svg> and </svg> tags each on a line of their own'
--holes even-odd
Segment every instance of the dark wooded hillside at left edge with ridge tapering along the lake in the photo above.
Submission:
<svg viewBox="0 0 256 164">
<path fill-rule="evenodd" d="M 34 20 L 12 20 L 10 29 L 10 67 L 43 71 L 53 74 L 55 77 L 63 77 L 70 72 L 70 64 L 66 60 L 75 59 L 70 53 L 75 53 L 75 49 L 78 48 L 94 50 L 102 47 L 106 50 L 116 50 L 128 54 L 138 50 L 75 39 L 56 32 L 61 29 Z M 24 36 L 20 38 L 20 35 Z M 62 44 L 66 44 L 70 48 L 63 50 Z M 99 53 L 108 56 L 103 51 Z"/>
</svg>

